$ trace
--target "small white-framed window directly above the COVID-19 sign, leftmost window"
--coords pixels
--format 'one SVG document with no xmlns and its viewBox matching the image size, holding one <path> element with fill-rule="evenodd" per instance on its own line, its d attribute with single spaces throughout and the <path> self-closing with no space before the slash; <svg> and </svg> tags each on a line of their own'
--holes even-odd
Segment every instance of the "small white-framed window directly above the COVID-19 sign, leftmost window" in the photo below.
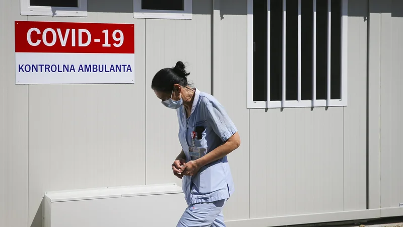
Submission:
<svg viewBox="0 0 403 227">
<path fill-rule="evenodd" d="M 87 17 L 87 0 L 20 0 L 21 15 Z"/>
</svg>

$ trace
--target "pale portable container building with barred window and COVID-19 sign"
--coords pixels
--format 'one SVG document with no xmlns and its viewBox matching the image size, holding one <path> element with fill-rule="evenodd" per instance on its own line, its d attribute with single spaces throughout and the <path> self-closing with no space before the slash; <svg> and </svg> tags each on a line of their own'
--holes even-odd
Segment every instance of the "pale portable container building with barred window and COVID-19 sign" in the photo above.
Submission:
<svg viewBox="0 0 403 227">
<path fill-rule="evenodd" d="M 179 187 L 151 89 L 177 61 L 241 136 L 227 226 L 403 216 L 403 1 L 2 0 L 0 22 L 2 227 L 45 224 L 46 192 Z"/>
</svg>

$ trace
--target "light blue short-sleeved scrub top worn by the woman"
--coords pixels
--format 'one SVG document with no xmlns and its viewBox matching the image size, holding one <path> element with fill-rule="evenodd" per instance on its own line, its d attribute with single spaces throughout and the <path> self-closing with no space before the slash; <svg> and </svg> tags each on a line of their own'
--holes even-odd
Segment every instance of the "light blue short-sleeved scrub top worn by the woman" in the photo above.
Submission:
<svg viewBox="0 0 403 227">
<path fill-rule="evenodd" d="M 191 114 L 186 119 L 185 109 L 177 108 L 179 122 L 179 141 L 186 155 L 186 162 L 203 157 L 238 130 L 228 117 L 224 107 L 212 95 L 195 89 Z M 192 132 L 195 127 L 203 127 L 201 139 L 195 138 L 194 147 L 197 153 L 189 152 L 193 147 Z M 203 129 L 202 128 L 202 129 Z M 182 190 L 186 203 L 213 202 L 229 198 L 234 192 L 227 156 L 200 168 L 194 176 L 183 176 Z"/>
</svg>

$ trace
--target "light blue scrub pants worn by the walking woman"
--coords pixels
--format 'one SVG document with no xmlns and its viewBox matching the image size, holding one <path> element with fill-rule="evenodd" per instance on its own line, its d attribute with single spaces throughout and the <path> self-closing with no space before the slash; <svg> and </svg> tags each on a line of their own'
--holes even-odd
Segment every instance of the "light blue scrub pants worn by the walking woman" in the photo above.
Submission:
<svg viewBox="0 0 403 227">
<path fill-rule="evenodd" d="M 190 204 L 176 227 L 225 227 L 223 207 L 226 201 Z"/>
</svg>

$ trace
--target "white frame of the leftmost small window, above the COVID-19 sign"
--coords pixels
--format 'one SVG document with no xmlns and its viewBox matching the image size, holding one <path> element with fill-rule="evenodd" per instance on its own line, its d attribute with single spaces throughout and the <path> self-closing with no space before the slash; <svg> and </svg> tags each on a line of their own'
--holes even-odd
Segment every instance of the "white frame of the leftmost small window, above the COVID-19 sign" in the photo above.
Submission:
<svg viewBox="0 0 403 227">
<path fill-rule="evenodd" d="M 21 15 L 87 17 L 87 0 L 78 0 L 79 7 L 30 6 L 29 0 L 20 0 Z"/>
</svg>

